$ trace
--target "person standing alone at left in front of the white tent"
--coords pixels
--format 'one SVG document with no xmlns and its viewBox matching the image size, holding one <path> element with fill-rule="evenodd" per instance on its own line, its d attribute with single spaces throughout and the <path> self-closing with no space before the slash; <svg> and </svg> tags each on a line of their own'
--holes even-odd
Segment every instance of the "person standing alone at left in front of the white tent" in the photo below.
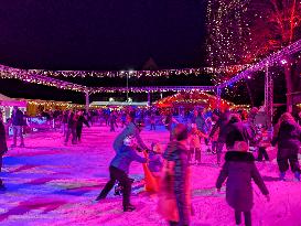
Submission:
<svg viewBox="0 0 301 226">
<path fill-rule="evenodd" d="M 24 147 L 24 139 L 23 139 L 23 112 L 17 107 L 13 107 L 12 115 L 11 115 L 11 123 L 12 123 L 12 130 L 13 130 L 13 143 L 12 148 L 17 146 L 17 136 L 20 137 L 20 147 Z"/>
</svg>

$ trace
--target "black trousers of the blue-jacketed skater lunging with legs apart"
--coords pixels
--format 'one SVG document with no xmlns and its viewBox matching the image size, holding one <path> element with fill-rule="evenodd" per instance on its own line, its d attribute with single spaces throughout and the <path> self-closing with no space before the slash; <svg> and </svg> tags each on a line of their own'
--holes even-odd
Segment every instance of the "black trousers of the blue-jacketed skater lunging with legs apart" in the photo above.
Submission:
<svg viewBox="0 0 301 226">
<path fill-rule="evenodd" d="M 109 166 L 110 180 L 107 182 L 106 186 L 99 194 L 100 198 L 105 198 L 115 185 L 116 180 L 120 182 L 123 187 L 122 191 L 122 205 L 128 206 L 130 204 L 130 192 L 131 192 L 131 181 L 128 174 L 112 165 Z"/>
</svg>

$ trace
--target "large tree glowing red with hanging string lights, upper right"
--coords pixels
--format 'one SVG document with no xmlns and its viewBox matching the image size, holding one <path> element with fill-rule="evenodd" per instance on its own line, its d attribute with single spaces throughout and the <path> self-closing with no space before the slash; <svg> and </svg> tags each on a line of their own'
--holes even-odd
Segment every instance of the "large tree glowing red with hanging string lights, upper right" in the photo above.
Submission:
<svg viewBox="0 0 301 226">
<path fill-rule="evenodd" d="M 250 64 L 300 39 L 301 0 L 208 0 L 207 52 L 212 66 Z M 300 87 L 292 72 L 295 58 L 286 65 L 287 104 Z M 221 83 L 233 75 L 219 74 Z"/>
</svg>

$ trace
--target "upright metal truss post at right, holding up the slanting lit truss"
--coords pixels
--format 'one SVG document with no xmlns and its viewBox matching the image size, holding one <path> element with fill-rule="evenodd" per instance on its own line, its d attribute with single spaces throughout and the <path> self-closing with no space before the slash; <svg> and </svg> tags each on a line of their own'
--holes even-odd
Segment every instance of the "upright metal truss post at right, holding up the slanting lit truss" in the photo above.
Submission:
<svg viewBox="0 0 301 226">
<path fill-rule="evenodd" d="M 265 109 L 267 114 L 267 126 L 268 129 L 272 127 L 272 106 L 273 106 L 273 83 L 272 75 L 269 73 L 269 65 L 266 65 L 266 77 L 265 77 Z"/>
</svg>

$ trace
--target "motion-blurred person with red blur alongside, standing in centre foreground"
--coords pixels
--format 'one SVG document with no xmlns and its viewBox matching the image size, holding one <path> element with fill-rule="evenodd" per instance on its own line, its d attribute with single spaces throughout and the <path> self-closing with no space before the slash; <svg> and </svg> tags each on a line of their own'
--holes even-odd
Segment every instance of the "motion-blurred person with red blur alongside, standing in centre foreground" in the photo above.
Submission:
<svg viewBox="0 0 301 226">
<path fill-rule="evenodd" d="M 183 123 L 178 123 L 173 129 L 173 141 L 164 151 L 164 166 L 162 182 L 159 191 L 159 213 L 172 226 L 190 225 L 191 216 L 191 184 L 190 164 L 185 144 L 189 131 Z M 165 203 L 172 200 L 173 202 Z"/>
</svg>

